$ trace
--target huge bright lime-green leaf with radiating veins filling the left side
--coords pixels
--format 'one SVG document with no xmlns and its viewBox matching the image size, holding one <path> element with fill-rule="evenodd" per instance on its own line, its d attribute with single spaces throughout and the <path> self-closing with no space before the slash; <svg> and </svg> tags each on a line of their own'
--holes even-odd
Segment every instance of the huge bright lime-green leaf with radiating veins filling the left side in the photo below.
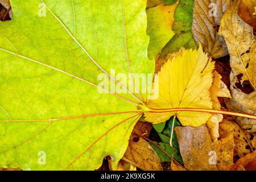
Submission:
<svg viewBox="0 0 256 182">
<path fill-rule="evenodd" d="M 107 155 L 117 164 L 142 98 L 99 93 L 97 76 L 154 73 L 146 0 L 11 5 L 14 18 L 0 22 L 0 166 L 91 170 Z"/>
</svg>

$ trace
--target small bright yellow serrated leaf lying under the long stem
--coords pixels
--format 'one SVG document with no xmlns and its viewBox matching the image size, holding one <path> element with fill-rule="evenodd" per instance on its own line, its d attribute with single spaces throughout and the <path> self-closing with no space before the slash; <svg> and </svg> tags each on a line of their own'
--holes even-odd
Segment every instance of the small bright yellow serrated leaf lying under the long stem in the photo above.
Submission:
<svg viewBox="0 0 256 182">
<path fill-rule="evenodd" d="M 159 72 L 159 97 L 148 101 L 147 107 L 212 109 L 209 89 L 213 81 L 213 69 L 214 62 L 201 46 L 198 50 L 189 49 L 181 56 L 168 60 Z M 152 123 L 167 121 L 172 115 L 177 115 L 183 126 L 197 127 L 206 123 L 212 114 L 189 111 L 145 113 L 146 120 Z"/>
</svg>

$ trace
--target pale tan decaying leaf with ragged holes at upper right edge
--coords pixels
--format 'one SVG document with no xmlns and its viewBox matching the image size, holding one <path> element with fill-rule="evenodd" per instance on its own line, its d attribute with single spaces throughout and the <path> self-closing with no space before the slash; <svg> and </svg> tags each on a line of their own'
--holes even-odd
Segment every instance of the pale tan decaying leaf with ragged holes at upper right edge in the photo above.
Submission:
<svg viewBox="0 0 256 182">
<path fill-rule="evenodd" d="M 253 50 L 255 46 L 251 49 L 250 53 L 246 53 L 253 45 L 255 38 L 253 28 L 237 14 L 240 2 L 241 0 L 234 1 L 229 9 L 226 10 L 221 19 L 219 34 L 226 40 L 230 54 L 230 66 L 233 69 L 234 75 L 242 73 L 242 81 L 249 80 L 251 86 L 255 88 L 253 72 L 246 69 L 248 63 L 255 66 L 255 59 L 250 60 L 250 57 L 255 58 L 255 55 L 252 55 L 255 53 Z"/>
</svg>

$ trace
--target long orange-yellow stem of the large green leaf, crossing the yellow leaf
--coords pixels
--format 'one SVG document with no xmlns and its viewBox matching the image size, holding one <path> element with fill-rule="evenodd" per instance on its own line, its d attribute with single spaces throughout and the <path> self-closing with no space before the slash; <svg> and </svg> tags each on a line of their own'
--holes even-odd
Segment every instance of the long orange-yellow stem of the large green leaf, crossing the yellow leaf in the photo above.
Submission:
<svg viewBox="0 0 256 182">
<path fill-rule="evenodd" d="M 171 113 L 171 112 L 179 112 L 179 111 L 224 114 L 224 115 L 233 115 L 236 117 L 256 119 L 256 115 L 234 113 L 232 111 L 222 111 L 222 110 L 214 110 L 214 109 L 200 109 L 200 108 L 189 108 L 189 107 L 167 108 L 167 109 L 154 109 L 154 108 L 146 107 L 146 109 L 145 109 L 145 112 L 148 112 L 148 113 Z"/>
</svg>

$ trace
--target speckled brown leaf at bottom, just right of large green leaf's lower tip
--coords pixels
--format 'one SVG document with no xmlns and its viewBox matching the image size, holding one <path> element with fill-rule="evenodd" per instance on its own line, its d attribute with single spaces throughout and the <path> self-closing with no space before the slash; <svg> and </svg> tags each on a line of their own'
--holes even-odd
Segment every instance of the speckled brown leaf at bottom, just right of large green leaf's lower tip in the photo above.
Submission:
<svg viewBox="0 0 256 182">
<path fill-rule="evenodd" d="M 131 135 L 129 146 L 122 158 L 144 171 L 162 171 L 158 155 L 146 140 Z"/>
</svg>

